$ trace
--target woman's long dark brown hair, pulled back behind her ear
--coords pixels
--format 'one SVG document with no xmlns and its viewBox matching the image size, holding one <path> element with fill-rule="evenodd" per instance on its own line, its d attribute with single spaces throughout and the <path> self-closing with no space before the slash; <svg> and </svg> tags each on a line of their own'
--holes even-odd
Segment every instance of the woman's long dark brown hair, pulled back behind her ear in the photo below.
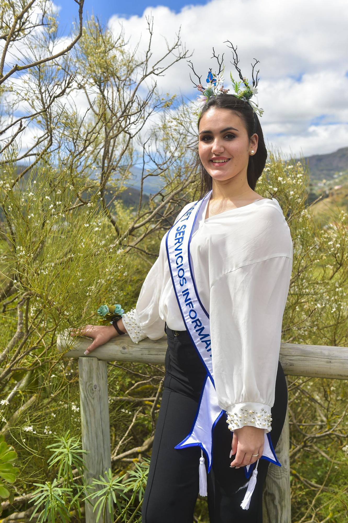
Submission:
<svg viewBox="0 0 348 523">
<path fill-rule="evenodd" d="M 208 109 L 211 109 L 212 107 L 216 107 L 218 109 L 230 109 L 231 111 L 238 113 L 238 116 L 242 120 L 247 130 L 249 140 L 254 133 L 258 135 L 258 148 L 254 155 L 249 156 L 249 163 L 247 169 L 248 184 L 251 187 L 251 189 L 254 190 L 256 182 L 260 178 L 267 160 L 267 150 L 264 144 L 263 132 L 258 116 L 256 115 L 257 125 L 256 131 L 254 131 L 254 111 L 251 105 L 248 102 L 241 100 L 240 98 L 237 98 L 234 95 L 219 94 L 217 96 L 211 96 L 210 98 L 208 98 L 206 104 L 203 106 L 197 123 L 198 129 L 202 116 Z M 196 165 L 198 166 L 201 175 L 201 194 L 199 196 L 199 199 L 201 199 L 207 194 L 208 191 L 211 190 L 213 186 L 213 179 L 203 167 L 201 158 L 198 154 L 198 147 L 196 148 Z"/>
</svg>

